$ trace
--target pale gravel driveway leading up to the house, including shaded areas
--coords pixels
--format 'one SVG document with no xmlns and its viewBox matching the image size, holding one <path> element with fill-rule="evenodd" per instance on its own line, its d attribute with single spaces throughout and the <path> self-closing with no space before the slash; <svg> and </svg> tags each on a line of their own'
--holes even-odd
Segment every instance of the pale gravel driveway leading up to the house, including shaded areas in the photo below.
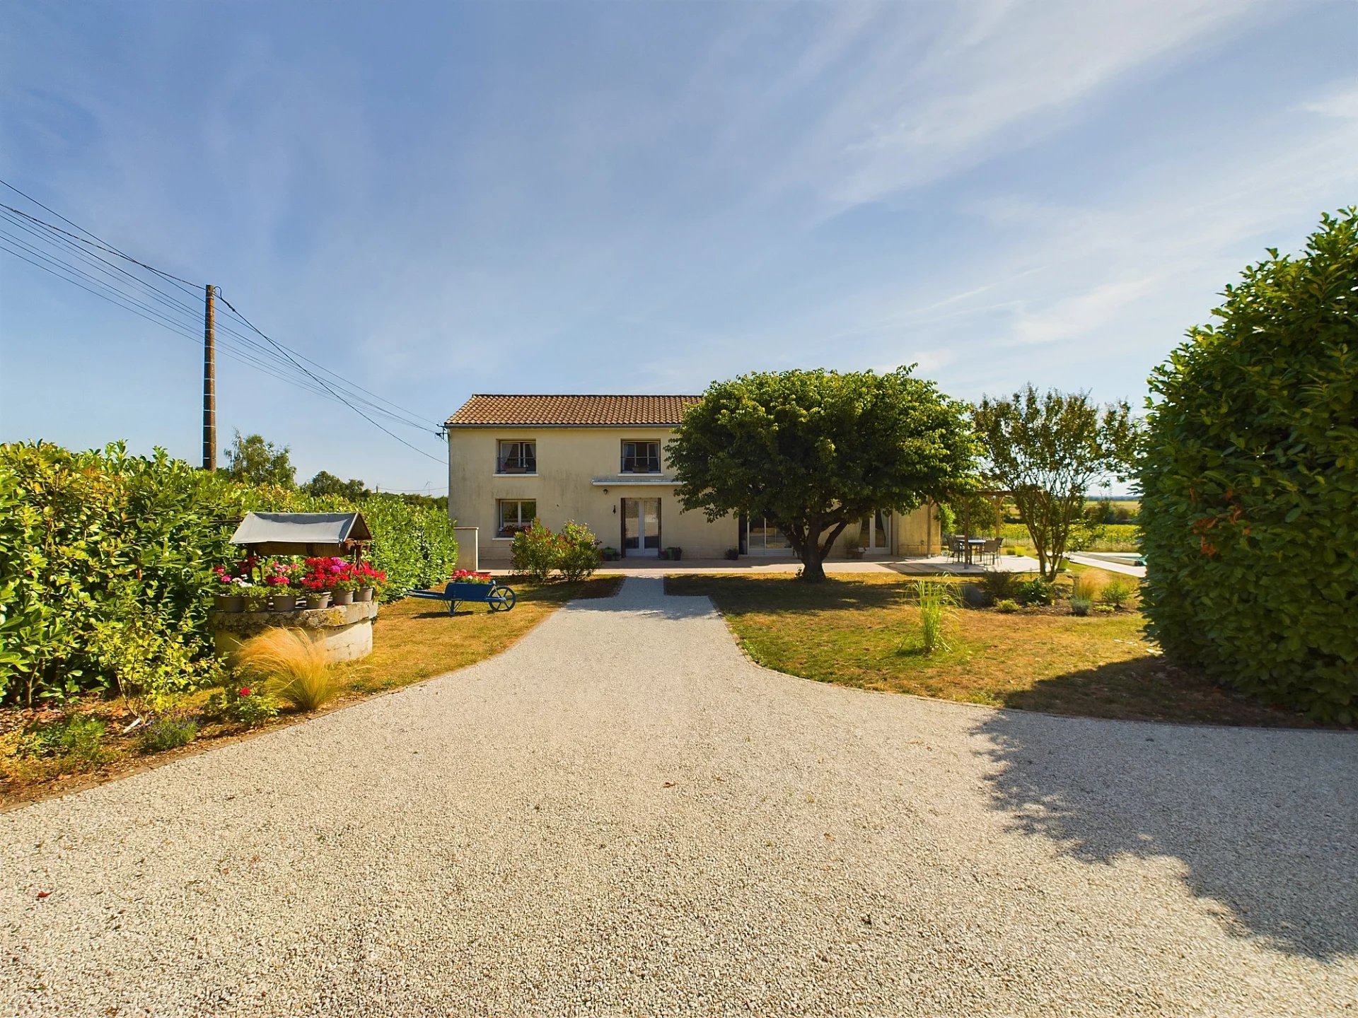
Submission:
<svg viewBox="0 0 1358 1018">
<path fill-rule="evenodd" d="M 1354 736 L 820 685 L 660 582 L 0 816 L 0 1014 L 1358 1008 Z"/>
</svg>

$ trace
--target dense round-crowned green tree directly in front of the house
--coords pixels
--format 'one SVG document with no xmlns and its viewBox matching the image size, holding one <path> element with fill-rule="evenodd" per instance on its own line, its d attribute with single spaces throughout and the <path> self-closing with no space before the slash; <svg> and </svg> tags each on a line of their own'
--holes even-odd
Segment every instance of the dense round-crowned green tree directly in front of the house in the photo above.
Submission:
<svg viewBox="0 0 1358 1018">
<path fill-rule="evenodd" d="M 684 509 L 763 516 L 807 581 L 846 527 L 906 513 L 964 483 L 975 442 L 966 406 L 910 368 L 786 371 L 713 383 L 667 448 Z"/>
</svg>

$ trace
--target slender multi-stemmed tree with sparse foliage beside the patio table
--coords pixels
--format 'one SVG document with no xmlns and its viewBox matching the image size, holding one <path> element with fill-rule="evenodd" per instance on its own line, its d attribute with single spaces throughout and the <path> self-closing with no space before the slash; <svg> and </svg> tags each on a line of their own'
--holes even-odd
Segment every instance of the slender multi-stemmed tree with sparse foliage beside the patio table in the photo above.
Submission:
<svg viewBox="0 0 1358 1018">
<path fill-rule="evenodd" d="M 1124 479 L 1135 457 L 1137 422 L 1126 400 L 1099 406 L 1088 392 L 985 396 L 972 410 L 987 474 L 1009 489 L 1028 524 L 1038 567 L 1055 580 L 1081 517 L 1085 491 L 1101 476 Z"/>
</svg>

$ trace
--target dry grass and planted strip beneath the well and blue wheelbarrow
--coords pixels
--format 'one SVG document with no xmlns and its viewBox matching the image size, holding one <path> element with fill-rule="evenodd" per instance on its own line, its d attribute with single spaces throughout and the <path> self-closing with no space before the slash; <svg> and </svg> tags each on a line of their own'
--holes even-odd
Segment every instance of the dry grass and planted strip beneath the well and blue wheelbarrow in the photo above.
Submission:
<svg viewBox="0 0 1358 1018">
<path fill-rule="evenodd" d="M 335 666 L 338 695 L 323 710 L 483 661 L 566 601 L 615 593 L 622 577 L 596 576 L 576 584 L 509 582 L 519 597 L 511 612 L 492 614 L 485 605 L 464 604 L 449 616 L 445 604 L 414 597 L 383 605 L 373 626 L 372 654 Z M 175 704 L 200 723 L 198 737 L 187 747 L 155 755 L 139 751 L 137 732 L 122 733 L 137 714 L 121 699 L 88 696 L 62 710 L 0 710 L 0 805 L 95 785 L 158 759 L 197 752 L 307 717 L 284 713 L 246 732 L 236 725 L 197 718 L 206 699 L 204 690 Z"/>
</svg>

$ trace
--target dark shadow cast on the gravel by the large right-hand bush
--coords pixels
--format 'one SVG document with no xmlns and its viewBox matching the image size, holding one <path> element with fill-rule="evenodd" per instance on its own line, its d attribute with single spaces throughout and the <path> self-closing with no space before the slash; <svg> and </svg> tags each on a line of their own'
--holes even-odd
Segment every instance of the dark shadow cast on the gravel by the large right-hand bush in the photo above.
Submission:
<svg viewBox="0 0 1358 1018">
<path fill-rule="evenodd" d="M 975 726 L 1010 829 L 1089 863 L 1169 856 L 1240 937 L 1358 953 L 1358 734 L 998 711 Z"/>
</svg>

